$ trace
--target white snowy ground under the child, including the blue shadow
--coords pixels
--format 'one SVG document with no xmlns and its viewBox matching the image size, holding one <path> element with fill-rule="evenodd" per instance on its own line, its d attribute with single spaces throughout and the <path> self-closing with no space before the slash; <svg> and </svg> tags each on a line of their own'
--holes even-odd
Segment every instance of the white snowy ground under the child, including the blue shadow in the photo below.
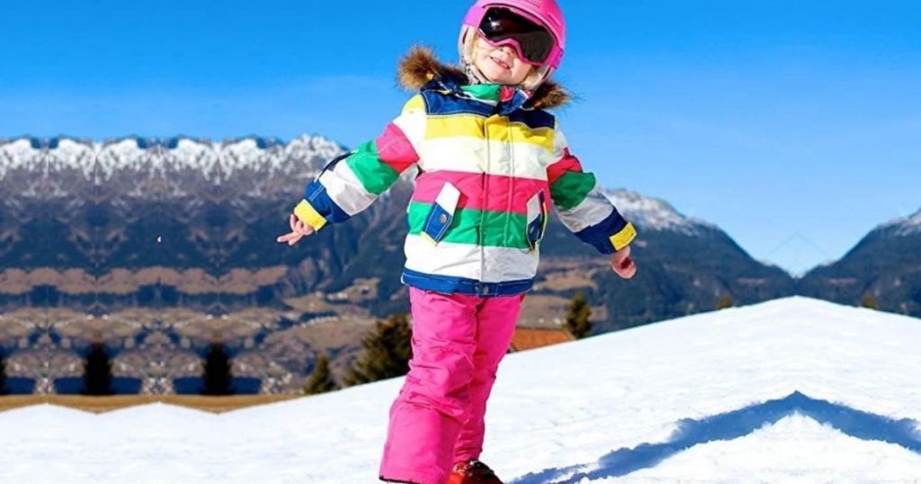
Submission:
<svg viewBox="0 0 921 484">
<path fill-rule="evenodd" d="M 509 355 L 509 482 L 921 483 L 921 320 L 804 298 Z M 0 413 L 0 482 L 373 483 L 402 379 L 220 416 Z"/>
</svg>

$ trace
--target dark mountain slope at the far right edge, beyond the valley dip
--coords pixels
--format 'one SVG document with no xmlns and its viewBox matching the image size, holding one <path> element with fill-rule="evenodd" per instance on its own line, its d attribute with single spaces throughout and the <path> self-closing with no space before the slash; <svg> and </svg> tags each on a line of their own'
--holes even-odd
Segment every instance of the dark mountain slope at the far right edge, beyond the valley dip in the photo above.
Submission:
<svg viewBox="0 0 921 484">
<path fill-rule="evenodd" d="M 812 269 L 799 287 L 810 297 L 921 315 L 919 274 L 921 211 L 881 224 L 840 260 Z"/>
</svg>

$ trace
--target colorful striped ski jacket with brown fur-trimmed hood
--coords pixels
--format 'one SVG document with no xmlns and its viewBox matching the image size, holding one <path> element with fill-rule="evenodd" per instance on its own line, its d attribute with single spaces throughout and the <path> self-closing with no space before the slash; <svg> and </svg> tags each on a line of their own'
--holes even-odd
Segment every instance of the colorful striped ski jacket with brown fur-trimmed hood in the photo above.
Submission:
<svg viewBox="0 0 921 484">
<path fill-rule="evenodd" d="M 416 166 L 402 282 L 482 297 L 531 288 L 550 203 L 602 254 L 635 238 L 545 111 L 565 102 L 565 91 L 548 83 L 529 99 L 461 79 L 426 50 L 410 53 L 401 80 L 419 93 L 381 136 L 332 160 L 308 184 L 297 218 L 315 230 L 343 222 Z"/>
</svg>

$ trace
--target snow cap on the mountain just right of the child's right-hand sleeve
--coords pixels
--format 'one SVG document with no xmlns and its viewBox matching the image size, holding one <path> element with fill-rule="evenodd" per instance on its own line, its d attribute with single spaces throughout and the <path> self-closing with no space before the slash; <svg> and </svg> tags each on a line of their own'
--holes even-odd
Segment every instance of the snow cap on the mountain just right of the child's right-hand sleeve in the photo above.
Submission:
<svg viewBox="0 0 921 484">
<path fill-rule="evenodd" d="M 683 216 L 659 198 L 624 189 L 607 191 L 605 195 L 624 218 L 640 225 L 643 230 L 673 230 L 687 235 L 699 235 L 702 229 L 717 230 L 715 225 L 705 220 Z"/>
</svg>

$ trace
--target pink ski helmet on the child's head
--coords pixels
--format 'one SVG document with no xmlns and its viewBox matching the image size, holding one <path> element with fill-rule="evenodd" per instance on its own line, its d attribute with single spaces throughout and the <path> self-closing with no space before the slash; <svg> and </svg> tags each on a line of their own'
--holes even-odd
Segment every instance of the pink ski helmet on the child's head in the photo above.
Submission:
<svg viewBox="0 0 921 484">
<path fill-rule="evenodd" d="M 471 39 L 471 35 L 475 35 L 480 31 L 484 17 L 492 8 L 510 10 L 543 27 L 553 36 L 553 41 L 549 47 L 542 47 L 537 52 L 537 55 L 533 55 L 538 57 L 540 62 L 533 62 L 528 59 L 528 53 L 523 52 L 524 49 L 519 45 L 519 42 L 510 42 L 516 48 L 522 60 L 529 62 L 538 69 L 541 75 L 540 82 L 538 82 L 538 85 L 540 85 L 559 67 L 560 61 L 563 59 L 566 44 L 566 24 L 560 6 L 557 5 L 556 0 L 477 0 L 468 10 L 461 26 L 461 36 L 458 41 L 461 63 L 466 64 L 464 51 L 467 41 Z M 465 67 L 468 70 L 471 68 L 468 65 L 465 65 Z M 533 88 L 536 88 L 536 86 Z"/>
</svg>

